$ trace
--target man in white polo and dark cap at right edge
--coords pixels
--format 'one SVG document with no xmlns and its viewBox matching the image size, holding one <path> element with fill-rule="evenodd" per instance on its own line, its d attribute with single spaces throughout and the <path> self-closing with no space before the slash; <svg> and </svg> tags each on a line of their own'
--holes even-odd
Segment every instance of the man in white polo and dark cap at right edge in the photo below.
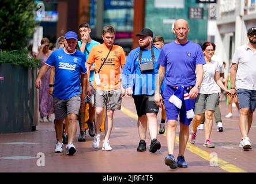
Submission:
<svg viewBox="0 0 256 184">
<path fill-rule="evenodd" d="M 256 108 L 256 27 L 247 32 L 249 43 L 238 47 L 234 53 L 231 66 L 231 93 L 238 95 L 240 106 L 240 139 L 239 147 L 251 148 L 248 137 L 253 113 Z"/>
</svg>

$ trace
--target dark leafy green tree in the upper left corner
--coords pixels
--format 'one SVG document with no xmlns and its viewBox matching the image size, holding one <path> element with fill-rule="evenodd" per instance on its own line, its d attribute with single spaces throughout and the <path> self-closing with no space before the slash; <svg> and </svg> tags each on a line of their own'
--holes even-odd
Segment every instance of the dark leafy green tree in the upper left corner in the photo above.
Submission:
<svg viewBox="0 0 256 184">
<path fill-rule="evenodd" d="M 36 3 L 33 0 L 0 0 L 0 50 L 25 48 L 35 31 Z"/>
</svg>

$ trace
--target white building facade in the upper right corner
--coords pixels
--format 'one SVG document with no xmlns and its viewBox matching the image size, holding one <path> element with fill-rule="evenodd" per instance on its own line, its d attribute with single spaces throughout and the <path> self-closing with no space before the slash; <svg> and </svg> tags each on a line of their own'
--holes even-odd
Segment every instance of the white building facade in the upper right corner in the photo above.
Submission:
<svg viewBox="0 0 256 184">
<path fill-rule="evenodd" d="M 217 1 L 216 55 L 229 66 L 235 48 L 248 42 L 247 30 L 256 26 L 255 0 Z M 227 67 L 229 68 L 229 67 Z"/>
</svg>

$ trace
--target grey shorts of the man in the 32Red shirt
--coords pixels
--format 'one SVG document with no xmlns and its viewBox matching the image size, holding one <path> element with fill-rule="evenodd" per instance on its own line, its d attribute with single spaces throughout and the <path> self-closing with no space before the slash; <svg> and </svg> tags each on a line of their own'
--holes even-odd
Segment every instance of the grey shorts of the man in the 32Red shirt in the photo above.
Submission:
<svg viewBox="0 0 256 184">
<path fill-rule="evenodd" d="M 81 103 L 80 95 L 74 95 L 69 99 L 59 99 L 53 97 L 54 113 L 56 120 L 63 120 L 67 114 L 79 113 Z"/>
</svg>

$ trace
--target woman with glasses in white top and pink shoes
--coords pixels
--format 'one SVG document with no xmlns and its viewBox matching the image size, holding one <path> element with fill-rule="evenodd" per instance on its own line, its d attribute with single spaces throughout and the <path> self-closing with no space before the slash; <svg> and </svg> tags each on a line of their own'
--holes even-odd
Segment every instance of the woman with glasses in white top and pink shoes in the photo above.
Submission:
<svg viewBox="0 0 256 184">
<path fill-rule="evenodd" d="M 191 144 L 195 143 L 195 137 L 197 136 L 197 127 L 201 123 L 202 118 L 205 116 L 205 143 L 204 147 L 214 148 L 214 144 L 210 141 L 210 133 L 212 132 L 213 113 L 216 103 L 219 99 L 219 91 L 214 87 L 214 83 L 221 87 L 227 94 L 229 90 L 223 85 L 219 74 L 219 64 L 215 60 L 212 60 L 212 56 L 215 51 L 215 44 L 205 42 L 202 45 L 202 50 L 205 56 L 204 64 L 204 78 L 202 85 L 199 89 L 199 94 L 195 102 L 195 117 L 192 121 L 193 129 L 189 136 Z"/>
</svg>

